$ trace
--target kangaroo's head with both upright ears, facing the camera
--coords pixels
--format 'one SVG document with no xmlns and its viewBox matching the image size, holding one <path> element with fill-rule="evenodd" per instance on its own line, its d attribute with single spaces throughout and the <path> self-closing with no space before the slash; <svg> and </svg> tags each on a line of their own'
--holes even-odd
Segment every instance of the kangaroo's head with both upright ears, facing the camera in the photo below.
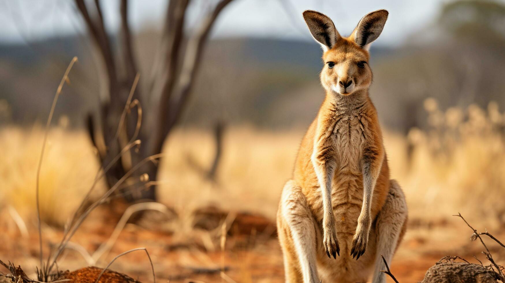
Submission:
<svg viewBox="0 0 505 283">
<path fill-rule="evenodd" d="M 347 96 L 368 89 L 372 82 L 368 50 L 382 32 L 387 15 L 386 10 L 371 12 L 360 20 L 351 35 L 343 37 L 326 15 L 304 12 L 312 36 L 323 48 L 324 67 L 320 77 L 326 91 Z"/>
</svg>

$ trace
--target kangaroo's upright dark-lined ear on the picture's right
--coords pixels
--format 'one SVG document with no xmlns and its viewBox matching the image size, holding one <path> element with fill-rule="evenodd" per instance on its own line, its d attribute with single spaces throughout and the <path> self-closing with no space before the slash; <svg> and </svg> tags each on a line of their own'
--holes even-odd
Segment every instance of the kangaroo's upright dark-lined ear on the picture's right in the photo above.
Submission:
<svg viewBox="0 0 505 283">
<path fill-rule="evenodd" d="M 363 17 L 351 35 L 354 36 L 356 44 L 366 50 L 369 50 L 370 43 L 377 39 L 377 37 L 381 34 L 382 29 L 386 24 L 388 14 L 389 13 L 386 10 L 377 10 L 368 13 L 365 17 Z"/>
</svg>

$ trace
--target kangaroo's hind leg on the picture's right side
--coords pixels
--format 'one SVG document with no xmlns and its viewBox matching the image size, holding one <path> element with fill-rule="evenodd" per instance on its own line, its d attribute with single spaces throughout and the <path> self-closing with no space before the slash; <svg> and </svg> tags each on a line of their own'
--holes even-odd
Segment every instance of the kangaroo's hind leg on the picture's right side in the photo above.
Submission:
<svg viewBox="0 0 505 283">
<path fill-rule="evenodd" d="M 396 180 L 390 181 L 386 202 L 377 216 L 375 225 L 377 253 L 373 283 L 382 283 L 386 282 L 386 277 L 380 271 L 385 269 L 381 255 L 384 256 L 388 264 L 391 263 L 394 252 L 407 228 L 407 203 Z"/>
</svg>

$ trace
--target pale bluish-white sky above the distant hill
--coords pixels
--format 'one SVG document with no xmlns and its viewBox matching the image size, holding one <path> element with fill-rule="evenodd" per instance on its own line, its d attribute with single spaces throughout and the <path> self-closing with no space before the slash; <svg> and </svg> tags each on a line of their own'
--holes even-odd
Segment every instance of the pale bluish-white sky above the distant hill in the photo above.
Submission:
<svg viewBox="0 0 505 283">
<path fill-rule="evenodd" d="M 301 17 L 306 9 L 330 16 L 341 34 L 348 34 L 366 13 L 387 9 L 389 19 L 376 44 L 401 44 L 408 35 L 434 21 L 440 6 L 451 0 L 234 0 L 220 15 L 213 36 L 257 36 L 311 40 Z M 504 1 L 504 0 L 501 0 Z M 196 22 L 210 0 L 193 0 L 189 24 Z M 107 26 L 118 26 L 118 1 L 102 0 Z M 200 4 L 200 5 L 194 5 Z M 166 0 L 131 0 L 135 30 L 159 27 Z M 23 41 L 84 31 L 71 0 L 0 0 L 0 41 Z M 290 16 L 289 16 L 290 15 Z M 22 36 L 20 35 L 22 34 Z"/>
</svg>

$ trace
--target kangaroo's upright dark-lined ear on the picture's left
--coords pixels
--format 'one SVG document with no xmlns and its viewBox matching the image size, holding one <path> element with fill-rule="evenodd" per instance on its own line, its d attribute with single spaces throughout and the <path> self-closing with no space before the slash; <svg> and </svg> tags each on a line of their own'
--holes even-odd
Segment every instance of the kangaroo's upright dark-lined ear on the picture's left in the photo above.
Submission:
<svg viewBox="0 0 505 283">
<path fill-rule="evenodd" d="M 312 37 L 321 44 L 324 51 L 330 50 L 340 37 L 333 21 L 328 16 L 311 10 L 304 12 L 304 19 Z"/>
</svg>

